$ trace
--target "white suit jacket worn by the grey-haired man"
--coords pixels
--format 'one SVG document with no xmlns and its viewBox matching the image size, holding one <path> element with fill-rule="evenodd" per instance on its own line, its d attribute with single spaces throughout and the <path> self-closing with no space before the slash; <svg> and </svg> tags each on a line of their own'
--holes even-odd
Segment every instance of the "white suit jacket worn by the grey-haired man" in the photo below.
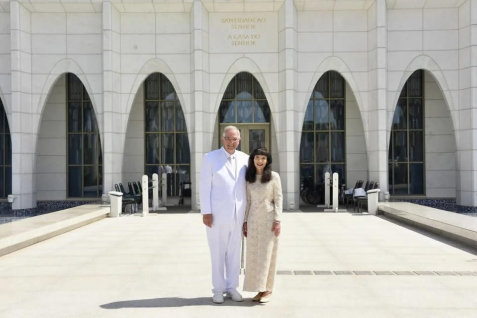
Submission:
<svg viewBox="0 0 477 318">
<path fill-rule="evenodd" d="M 235 150 L 237 179 L 235 171 L 227 165 L 228 157 L 223 147 L 206 153 L 200 169 L 200 213 L 212 213 L 213 223 L 230 223 L 237 207 L 237 219 L 243 223 L 247 207 L 245 171 L 249 156 Z"/>
</svg>

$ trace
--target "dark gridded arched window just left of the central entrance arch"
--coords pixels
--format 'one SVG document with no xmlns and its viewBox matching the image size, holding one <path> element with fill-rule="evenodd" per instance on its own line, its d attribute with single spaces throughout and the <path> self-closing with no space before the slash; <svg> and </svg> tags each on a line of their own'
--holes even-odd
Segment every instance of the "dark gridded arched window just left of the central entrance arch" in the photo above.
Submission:
<svg viewBox="0 0 477 318">
<path fill-rule="evenodd" d="M 167 195 L 180 195 L 191 179 L 191 150 L 186 119 L 171 81 L 161 73 L 144 82 L 145 171 L 167 174 Z"/>
</svg>

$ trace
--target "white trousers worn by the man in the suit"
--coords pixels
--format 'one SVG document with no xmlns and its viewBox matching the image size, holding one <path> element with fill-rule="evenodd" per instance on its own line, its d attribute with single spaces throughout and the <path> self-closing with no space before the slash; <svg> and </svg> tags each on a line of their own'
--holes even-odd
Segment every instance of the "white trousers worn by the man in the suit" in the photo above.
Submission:
<svg viewBox="0 0 477 318">
<path fill-rule="evenodd" d="M 231 223 L 206 227 L 212 260 L 212 293 L 237 290 L 240 275 L 240 248 L 242 224 L 237 217 Z M 225 273 L 225 275 L 224 275 Z"/>
</svg>

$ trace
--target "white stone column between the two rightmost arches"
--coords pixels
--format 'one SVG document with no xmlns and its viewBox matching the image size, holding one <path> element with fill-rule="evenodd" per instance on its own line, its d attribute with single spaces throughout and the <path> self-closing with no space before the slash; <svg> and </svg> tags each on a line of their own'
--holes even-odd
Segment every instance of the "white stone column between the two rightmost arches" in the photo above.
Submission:
<svg viewBox="0 0 477 318">
<path fill-rule="evenodd" d="M 365 125 L 365 135 L 368 135 L 368 170 L 369 180 L 379 182 L 380 195 L 388 189 L 387 181 L 387 143 L 390 127 L 386 129 L 387 119 L 387 80 L 386 80 L 386 3 L 377 0 L 374 8 L 370 8 L 368 22 L 369 50 L 369 93 L 367 109 L 368 125 Z"/>
</svg>

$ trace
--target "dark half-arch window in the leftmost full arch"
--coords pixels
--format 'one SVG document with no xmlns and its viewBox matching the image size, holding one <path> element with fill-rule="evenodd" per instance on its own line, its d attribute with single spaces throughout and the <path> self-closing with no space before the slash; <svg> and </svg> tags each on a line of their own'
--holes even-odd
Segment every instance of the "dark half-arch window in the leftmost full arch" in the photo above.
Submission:
<svg viewBox="0 0 477 318">
<path fill-rule="evenodd" d="M 95 110 L 81 80 L 67 76 L 68 197 L 102 194 L 102 153 Z"/>
</svg>

